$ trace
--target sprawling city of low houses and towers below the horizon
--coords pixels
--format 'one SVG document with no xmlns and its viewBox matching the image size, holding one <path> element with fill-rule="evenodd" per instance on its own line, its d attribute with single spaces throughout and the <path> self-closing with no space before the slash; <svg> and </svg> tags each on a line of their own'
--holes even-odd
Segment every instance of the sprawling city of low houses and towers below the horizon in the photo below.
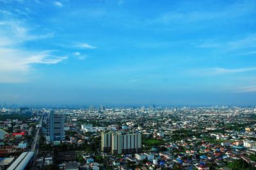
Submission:
<svg viewBox="0 0 256 170">
<path fill-rule="evenodd" d="M 1 169 L 253 169 L 256 107 L 1 109 Z"/>
</svg>

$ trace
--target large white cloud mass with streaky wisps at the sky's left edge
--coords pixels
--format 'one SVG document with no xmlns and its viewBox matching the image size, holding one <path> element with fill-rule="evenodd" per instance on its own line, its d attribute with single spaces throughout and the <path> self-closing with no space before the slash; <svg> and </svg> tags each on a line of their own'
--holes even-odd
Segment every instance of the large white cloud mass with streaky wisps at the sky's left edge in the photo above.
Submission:
<svg viewBox="0 0 256 170">
<path fill-rule="evenodd" d="M 24 43 L 51 38 L 53 34 L 33 35 L 33 27 L 27 26 L 24 20 L 15 19 L 12 13 L 1 13 L 6 20 L 0 22 L 0 82 L 29 81 L 35 64 L 53 65 L 68 58 L 56 50 L 24 49 Z"/>
</svg>

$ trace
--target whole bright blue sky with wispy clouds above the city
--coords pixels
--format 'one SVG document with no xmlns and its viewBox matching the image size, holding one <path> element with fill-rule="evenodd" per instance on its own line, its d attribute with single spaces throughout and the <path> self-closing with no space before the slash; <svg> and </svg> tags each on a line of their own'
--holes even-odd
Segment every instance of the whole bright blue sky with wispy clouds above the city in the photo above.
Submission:
<svg viewBox="0 0 256 170">
<path fill-rule="evenodd" d="M 0 0 L 0 104 L 256 105 L 255 9 Z"/>
</svg>

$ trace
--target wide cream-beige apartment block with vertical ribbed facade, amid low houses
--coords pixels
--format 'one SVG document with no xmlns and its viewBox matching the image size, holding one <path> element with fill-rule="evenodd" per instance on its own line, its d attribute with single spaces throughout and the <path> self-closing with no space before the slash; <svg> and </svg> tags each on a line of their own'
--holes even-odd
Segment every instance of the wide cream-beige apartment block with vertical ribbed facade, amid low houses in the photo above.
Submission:
<svg viewBox="0 0 256 170">
<path fill-rule="evenodd" d="M 113 155 L 121 153 L 139 153 L 141 151 L 141 134 L 102 132 L 101 150 L 105 152 L 111 151 Z"/>
</svg>

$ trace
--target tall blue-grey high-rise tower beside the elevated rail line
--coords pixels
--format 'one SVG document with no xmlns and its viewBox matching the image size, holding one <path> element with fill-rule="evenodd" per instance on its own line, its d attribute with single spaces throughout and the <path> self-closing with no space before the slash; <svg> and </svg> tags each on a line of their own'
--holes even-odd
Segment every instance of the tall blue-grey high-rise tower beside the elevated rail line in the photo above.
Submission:
<svg viewBox="0 0 256 170">
<path fill-rule="evenodd" d="M 49 142 L 52 141 L 61 141 L 64 139 L 64 114 L 56 113 L 51 111 L 46 118 L 46 140 Z"/>
</svg>

